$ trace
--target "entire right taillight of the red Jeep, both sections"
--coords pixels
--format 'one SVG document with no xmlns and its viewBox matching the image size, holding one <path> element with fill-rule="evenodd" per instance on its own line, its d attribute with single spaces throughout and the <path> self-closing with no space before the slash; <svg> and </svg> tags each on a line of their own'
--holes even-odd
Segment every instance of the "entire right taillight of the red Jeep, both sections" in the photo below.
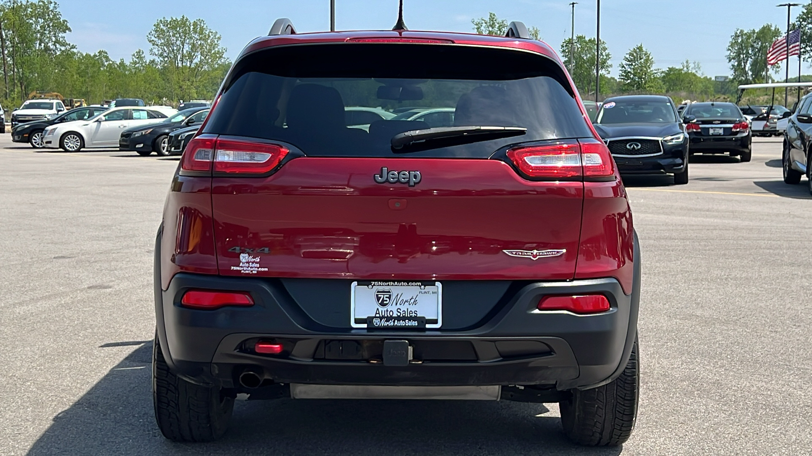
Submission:
<svg viewBox="0 0 812 456">
<path fill-rule="evenodd" d="M 531 178 L 607 177 L 615 174 L 609 149 L 598 140 L 512 148 L 507 155 L 523 174 Z"/>
</svg>

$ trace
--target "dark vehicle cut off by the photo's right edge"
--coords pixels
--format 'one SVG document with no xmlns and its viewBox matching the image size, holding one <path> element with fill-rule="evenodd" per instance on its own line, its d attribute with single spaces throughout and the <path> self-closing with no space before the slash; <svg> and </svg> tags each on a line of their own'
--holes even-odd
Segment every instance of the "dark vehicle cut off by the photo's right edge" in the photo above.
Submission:
<svg viewBox="0 0 812 456">
<path fill-rule="evenodd" d="M 795 185 L 806 175 L 812 195 L 810 150 L 812 150 L 812 93 L 801 98 L 797 110 L 789 116 L 787 131 L 784 132 L 784 153 L 781 154 L 784 183 Z"/>
</svg>

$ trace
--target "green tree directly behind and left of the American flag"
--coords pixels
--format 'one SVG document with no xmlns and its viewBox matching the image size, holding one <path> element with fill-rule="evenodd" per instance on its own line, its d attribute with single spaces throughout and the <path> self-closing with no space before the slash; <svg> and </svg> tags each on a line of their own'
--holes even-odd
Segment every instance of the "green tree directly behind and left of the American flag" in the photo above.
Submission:
<svg viewBox="0 0 812 456">
<path fill-rule="evenodd" d="M 760 83 L 767 80 L 769 70 L 780 70 L 780 64 L 767 68 L 767 51 L 781 34 L 780 29 L 772 24 L 763 25 L 758 30 L 736 28 L 725 56 L 733 80 L 745 84 Z"/>
</svg>

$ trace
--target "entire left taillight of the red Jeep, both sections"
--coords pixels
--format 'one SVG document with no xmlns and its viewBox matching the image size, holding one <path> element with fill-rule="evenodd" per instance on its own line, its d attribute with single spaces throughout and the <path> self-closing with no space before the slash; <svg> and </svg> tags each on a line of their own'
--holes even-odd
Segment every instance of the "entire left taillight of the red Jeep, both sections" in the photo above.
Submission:
<svg viewBox="0 0 812 456">
<path fill-rule="evenodd" d="M 288 152 L 279 144 L 201 135 L 189 141 L 180 168 L 196 172 L 265 174 L 279 166 Z"/>
</svg>

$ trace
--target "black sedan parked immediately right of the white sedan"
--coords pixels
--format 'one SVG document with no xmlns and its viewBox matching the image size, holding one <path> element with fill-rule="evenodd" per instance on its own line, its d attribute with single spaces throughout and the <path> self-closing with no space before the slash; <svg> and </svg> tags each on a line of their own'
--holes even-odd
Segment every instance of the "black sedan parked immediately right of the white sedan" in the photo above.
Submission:
<svg viewBox="0 0 812 456">
<path fill-rule="evenodd" d="M 199 126 L 208 114 L 208 108 L 191 108 L 179 111 L 159 123 L 127 128 L 121 132 L 119 150 L 135 151 L 141 157 L 146 157 L 153 151 L 158 155 L 169 155 L 169 134 L 179 128 Z"/>
</svg>

